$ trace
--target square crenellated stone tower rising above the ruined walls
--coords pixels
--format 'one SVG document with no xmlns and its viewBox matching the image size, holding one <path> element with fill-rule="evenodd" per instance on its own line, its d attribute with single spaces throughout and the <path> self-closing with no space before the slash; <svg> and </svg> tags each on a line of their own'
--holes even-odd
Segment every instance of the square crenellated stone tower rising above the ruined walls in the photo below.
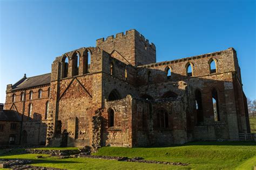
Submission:
<svg viewBox="0 0 256 170">
<path fill-rule="evenodd" d="M 96 40 L 96 46 L 109 53 L 127 65 L 139 66 L 147 63 L 156 62 L 156 47 L 149 44 L 136 30 L 129 30 L 124 33 L 118 33 L 116 37 L 109 36 Z"/>
</svg>

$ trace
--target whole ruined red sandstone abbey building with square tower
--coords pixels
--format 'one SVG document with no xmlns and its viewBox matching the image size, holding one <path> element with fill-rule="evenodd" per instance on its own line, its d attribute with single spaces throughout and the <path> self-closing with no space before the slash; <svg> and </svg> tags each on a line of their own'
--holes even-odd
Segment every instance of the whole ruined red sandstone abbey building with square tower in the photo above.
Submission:
<svg viewBox="0 0 256 170">
<path fill-rule="evenodd" d="M 21 143 L 94 152 L 250 133 L 233 48 L 156 63 L 154 44 L 129 30 L 58 56 L 51 68 L 6 88 L 5 109 L 23 115 Z"/>
</svg>

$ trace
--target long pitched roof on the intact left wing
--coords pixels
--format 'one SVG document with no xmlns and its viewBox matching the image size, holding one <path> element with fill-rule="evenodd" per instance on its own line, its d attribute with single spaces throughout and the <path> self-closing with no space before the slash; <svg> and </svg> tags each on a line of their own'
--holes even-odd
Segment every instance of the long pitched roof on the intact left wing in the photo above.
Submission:
<svg viewBox="0 0 256 170">
<path fill-rule="evenodd" d="M 12 87 L 12 90 L 19 90 L 19 89 L 40 86 L 44 84 L 50 84 L 50 82 L 51 82 L 51 73 L 28 77 L 22 80 L 22 82 L 15 83 L 14 86 Z"/>
</svg>

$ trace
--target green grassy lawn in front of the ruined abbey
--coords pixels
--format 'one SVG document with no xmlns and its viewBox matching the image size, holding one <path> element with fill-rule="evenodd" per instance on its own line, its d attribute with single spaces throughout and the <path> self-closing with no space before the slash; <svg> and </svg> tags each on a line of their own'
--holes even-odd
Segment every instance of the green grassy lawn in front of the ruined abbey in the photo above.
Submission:
<svg viewBox="0 0 256 170">
<path fill-rule="evenodd" d="M 57 148 L 59 149 L 59 148 Z M 75 148 L 74 148 L 75 149 Z M 3 155 L 3 158 L 33 159 L 32 165 L 66 169 L 252 169 L 256 165 L 254 142 L 193 142 L 172 147 L 102 147 L 96 155 L 143 157 L 147 160 L 188 163 L 188 166 L 144 164 L 92 158 L 58 159 L 38 154 Z"/>
</svg>

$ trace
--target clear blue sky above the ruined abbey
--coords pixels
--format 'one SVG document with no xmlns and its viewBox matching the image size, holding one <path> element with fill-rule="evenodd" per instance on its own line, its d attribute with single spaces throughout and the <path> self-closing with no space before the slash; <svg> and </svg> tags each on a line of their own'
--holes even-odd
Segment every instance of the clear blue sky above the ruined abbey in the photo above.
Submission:
<svg viewBox="0 0 256 170">
<path fill-rule="evenodd" d="M 247 97 L 256 99 L 255 1 L 0 0 L 0 103 L 6 84 L 51 72 L 56 56 L 136 29 L 157 61 L 234 47 Z"/>
</svg>

